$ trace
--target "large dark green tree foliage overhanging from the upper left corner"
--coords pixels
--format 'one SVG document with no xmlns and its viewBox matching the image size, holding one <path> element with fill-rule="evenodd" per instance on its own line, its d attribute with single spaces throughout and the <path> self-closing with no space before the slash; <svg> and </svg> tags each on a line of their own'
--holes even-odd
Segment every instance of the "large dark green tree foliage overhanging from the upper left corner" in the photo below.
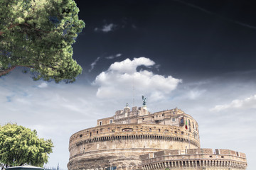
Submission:
<svg viewBox="0 0 256 170">
<path fill-rule="evenodd" d="M 0 77 L 28 67 L 34 80 L 73 82 L 72 44 L 85 23 L 74 0 L 0 0 Z"/>
</svg>

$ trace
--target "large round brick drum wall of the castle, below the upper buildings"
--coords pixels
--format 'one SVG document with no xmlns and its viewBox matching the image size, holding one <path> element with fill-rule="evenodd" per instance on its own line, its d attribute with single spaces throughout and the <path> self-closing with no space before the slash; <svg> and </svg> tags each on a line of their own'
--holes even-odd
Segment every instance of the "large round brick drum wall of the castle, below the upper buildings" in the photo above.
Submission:
<svg viewBox="0 0 256 170">
<path fill-rule="evenodd" d="M 200 143 L 183 127 L 170 125 L 102 125 L 81 130 L 70 137 L 68 169 L 139 168 L 139 156 L 163 149 L 199 148 Z M 191 135 L 188 140 L 188 134 Z M 97 163 L 96 163 L 97 162 Z M 121 168 L 122 167 L 122 168 Z"/>
</svg>

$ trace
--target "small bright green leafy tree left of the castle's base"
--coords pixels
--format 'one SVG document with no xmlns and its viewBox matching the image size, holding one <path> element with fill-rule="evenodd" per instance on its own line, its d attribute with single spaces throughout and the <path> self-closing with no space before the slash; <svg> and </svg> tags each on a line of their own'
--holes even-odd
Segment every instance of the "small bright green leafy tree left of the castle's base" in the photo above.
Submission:
<svg viewBox="0 0 256 170">
<path fill-rule="evenodd" d="M 0 126 L 0 164 L 9 166 L 31 164 L 43 167 L 53 152 L 51 140 L 39 139 L 36 130 L 8 123 Z"/>
</svg>

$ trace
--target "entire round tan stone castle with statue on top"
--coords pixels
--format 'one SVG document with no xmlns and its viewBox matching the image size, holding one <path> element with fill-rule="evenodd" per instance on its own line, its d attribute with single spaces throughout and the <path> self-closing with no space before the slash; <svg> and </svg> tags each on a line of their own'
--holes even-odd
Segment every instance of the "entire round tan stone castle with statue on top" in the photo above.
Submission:
<svg viewBox="0 0 256 170">
<path fill-rule="evenodd" d="M 70 137 L 69 170 L 246 169 L 242 152 L 202 149 L 198 123 L 174 108 L 149 113 L 143 107 L 116 111 L 97 126 Z"/>
</svg>

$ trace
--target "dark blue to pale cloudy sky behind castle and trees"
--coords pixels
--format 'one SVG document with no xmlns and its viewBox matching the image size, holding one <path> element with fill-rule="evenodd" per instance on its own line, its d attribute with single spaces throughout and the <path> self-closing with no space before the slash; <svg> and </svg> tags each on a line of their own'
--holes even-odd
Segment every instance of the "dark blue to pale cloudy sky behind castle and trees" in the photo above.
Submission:
<svg viewBox="0 0 256 170">
<path fill-rule="evenodd" d="M 202 148 L 232 149 L 256 167 L 255 2 L 82 1 L 73 84 L 0 78 L 0 125 L 52 139 L 46 166 L 68 169 L 73 133 L 147 98 L 151 113 L 180 108 L 198 122 Z"/>
</svg>

